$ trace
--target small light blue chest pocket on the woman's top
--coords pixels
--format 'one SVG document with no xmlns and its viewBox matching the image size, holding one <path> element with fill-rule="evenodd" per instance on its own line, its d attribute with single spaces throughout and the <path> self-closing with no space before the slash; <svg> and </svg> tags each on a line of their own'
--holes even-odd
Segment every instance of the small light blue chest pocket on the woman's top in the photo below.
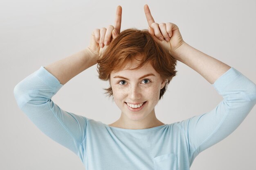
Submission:
<svg viewBox="0 0 256 170">
<path fill-rule="evenodd" d="M 154 157 L 155 170 L 179 170 L 175 153 L 168 153 Z"/>
</svg>

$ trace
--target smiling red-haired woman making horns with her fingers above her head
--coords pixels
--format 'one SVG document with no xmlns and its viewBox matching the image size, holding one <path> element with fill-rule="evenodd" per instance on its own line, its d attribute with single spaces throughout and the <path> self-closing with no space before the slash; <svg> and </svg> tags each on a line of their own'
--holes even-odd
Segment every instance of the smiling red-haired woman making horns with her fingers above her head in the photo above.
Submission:
<svg viewBox="0 0 256 170">
<path fill-rule="evenodd" d="M 189 46 L 173 23 L 148 31 L 96 29 L 90 46 L 27 76 L 14 88 L 18 106 L 38 128 L 79 156 L 86 170 L 189 170 L 203 150 L 230 135 L 256 104 L 256 85 L 238 70 Z M 211 111 L 164 124 L 154 107 L 175 76 L 176 60 L 202 75 L 223 100 Z M 67 81 L 98 63 L 99 78 L 121 110 L 112 124 L 62 110 L 52 100 Z"/>
</svg>

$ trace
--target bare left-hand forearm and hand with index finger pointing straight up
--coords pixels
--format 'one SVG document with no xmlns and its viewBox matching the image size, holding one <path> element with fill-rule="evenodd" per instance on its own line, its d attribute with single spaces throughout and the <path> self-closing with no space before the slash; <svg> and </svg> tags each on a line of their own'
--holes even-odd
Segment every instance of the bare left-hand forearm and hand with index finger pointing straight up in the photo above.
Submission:
<svg viewBox="0 0 256 170">
<path fill-rule="evenodd" d="M 90 45 L 69 57 L 47 65 L 45 69 L 54 75 L 62 85 L 70 81 L 74 76 L 97 63 L 97 59 L 103 52 L 104 45 L 108 45 L 111 39 L 115 39 L 121 29 L 121 6 L 117 7 L 115 26 L 95 29 L 92 32 Z M 101 48 L 100 48 L 101 47 Z"/>
</svg>

